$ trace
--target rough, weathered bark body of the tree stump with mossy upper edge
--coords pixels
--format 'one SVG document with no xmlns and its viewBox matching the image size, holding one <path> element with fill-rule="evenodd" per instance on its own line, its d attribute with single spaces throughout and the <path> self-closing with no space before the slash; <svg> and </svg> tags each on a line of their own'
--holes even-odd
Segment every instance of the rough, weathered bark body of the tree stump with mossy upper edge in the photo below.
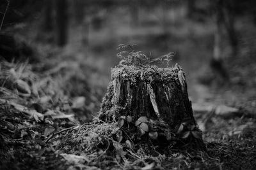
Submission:
<svg viewBox="0 0 256 170">
<path fill-rule="evenodd" d="M 204 148 L 202 132 L 196 126 L 185 74 L 180 66 L 118 65 L 113 68 L 99 118 L 113 122 L 127 117 L 133 122 L 147 117 L 148 124 L 150 120 L 166 124 L 165 130 L 174 134 L 174 138 L 180 138 L 182 143 L 197 143 L 196 146 Z M 148 132 L 150 128 L 154 129 L 152 125 L 148 127 Z M 188 136 L 193 134 L 195 138 L 188 140 Z"/>
</svg>

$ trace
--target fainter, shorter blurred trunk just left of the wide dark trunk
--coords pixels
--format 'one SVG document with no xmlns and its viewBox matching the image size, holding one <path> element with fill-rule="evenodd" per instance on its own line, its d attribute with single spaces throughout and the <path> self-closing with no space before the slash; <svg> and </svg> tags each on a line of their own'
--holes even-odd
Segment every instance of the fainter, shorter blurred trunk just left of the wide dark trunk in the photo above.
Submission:
<svg viewBox="0 0 256 170">
<path fill-rule="evenodd" d="M 53 20 L 52 20 L 52 1 L 45 0 L 45 10 L 44 10 L 44 31 L 52 31 L 53 29 Z"/>
</svg>

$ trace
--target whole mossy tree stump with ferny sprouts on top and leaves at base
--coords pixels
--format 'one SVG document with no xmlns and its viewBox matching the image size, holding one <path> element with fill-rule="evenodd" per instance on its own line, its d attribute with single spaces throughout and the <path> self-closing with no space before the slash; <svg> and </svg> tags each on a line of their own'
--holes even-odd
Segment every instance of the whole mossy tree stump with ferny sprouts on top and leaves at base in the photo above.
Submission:
<svg viewBox="0 0 256 170">
<path fill-rule="evenodd" d="M 157 59 L 134 45 L 119 45 L 118 66 L 111 70 L 111 81 L 99 119 L 118 122 L 115 141 L 134 148 L 134 144 L 179 146 L 205 149 L 202 132 L 198 129 L 191 102 L 188 99 L 185 73 L 175 64 L 169 67 L 175 53 Z M 154 62 L 167 67 L 160 68 Z"/>
</svg>

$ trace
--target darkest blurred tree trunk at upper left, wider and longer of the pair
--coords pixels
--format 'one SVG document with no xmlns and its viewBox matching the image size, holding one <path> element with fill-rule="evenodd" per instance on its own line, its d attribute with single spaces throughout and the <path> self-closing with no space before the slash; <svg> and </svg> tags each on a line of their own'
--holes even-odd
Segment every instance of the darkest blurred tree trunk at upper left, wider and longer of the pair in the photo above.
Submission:
<svg viewBox="0 0 256 170">
<path fill-rule="evenodd" d="M 56 43 L 65 46 L 68 38 L 68 1 L 55 0 L 56 7 Z"/>
</svg>

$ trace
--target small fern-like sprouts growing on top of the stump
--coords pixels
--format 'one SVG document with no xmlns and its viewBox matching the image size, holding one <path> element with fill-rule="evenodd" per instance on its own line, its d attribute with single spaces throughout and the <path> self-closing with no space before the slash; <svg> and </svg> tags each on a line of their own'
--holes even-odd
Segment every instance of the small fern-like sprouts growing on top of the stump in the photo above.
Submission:
<svg viewBox="0 0 256 170">
<path fill-rule="evenodd" d="M 134 46 L 137 45 L 118 45 L 117 50 L 122 50 L 117 53 L 117 57 L 122 59 L 120 61 L 121 65 L 134 65 L 134 66 L 150 66 L 150 64 L 154 62 L 158 62 L 161 64 L 166 64 L 166 67 L 169 67 L 170 60 L 175 56 L 175 52 L 170 52 L 165 55 L 161 55 L 156 59 L 150 59 L 150 56 L 145 55 L 141 51 L 134 50 Z"/>
</svg>

